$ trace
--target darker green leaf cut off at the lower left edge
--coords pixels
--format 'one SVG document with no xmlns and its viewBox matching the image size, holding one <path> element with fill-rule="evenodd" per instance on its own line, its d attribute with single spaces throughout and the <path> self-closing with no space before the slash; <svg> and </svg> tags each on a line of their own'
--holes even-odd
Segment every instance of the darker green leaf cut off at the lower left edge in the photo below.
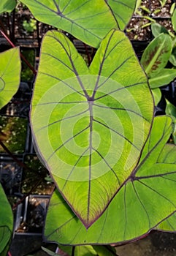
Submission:
<svg viewBox="0 0 176 256">
<path fill-rule="evenodd" d="M 0 255 L 7 256 L 9 241 L 12 238 L 13 214 L 1 184 L 0 195 Z"/>
</svg>

